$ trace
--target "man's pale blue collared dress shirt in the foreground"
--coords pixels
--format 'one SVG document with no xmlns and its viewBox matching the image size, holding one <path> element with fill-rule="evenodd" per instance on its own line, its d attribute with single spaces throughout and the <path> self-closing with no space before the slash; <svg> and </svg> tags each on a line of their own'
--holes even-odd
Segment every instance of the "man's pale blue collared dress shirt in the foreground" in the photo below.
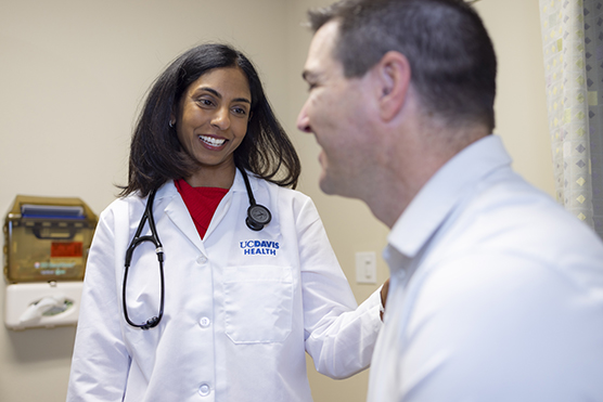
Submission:
<svg viewBox="0 0 603 402">
<path fill-rule="evenodd" d="M 394 225 L 369 401 L 603 401 L 603 244 L 488 135 Z"/>
</svg>

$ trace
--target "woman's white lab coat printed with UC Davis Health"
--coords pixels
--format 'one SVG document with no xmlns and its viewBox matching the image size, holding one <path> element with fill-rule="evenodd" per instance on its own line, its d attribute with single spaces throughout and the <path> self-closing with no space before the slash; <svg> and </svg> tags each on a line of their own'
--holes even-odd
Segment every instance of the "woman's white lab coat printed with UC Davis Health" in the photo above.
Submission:
<svg viewBox="0 0 603 402">
<path fill-rule="evenodd" d="M 125 252 L 145 199 L 117 199 L 102 212 L 67 401 L 311 401 L 305 351 L 330 377 L 368 367 L 382 325 L 379 290 L 357 308 L 311 199 L 249 181 L 272 221 L 259 232 L 246 226 L 236 171 L 204 239 L 174 182 L 158 190 L 165 312 L 149 330 L 129 326 L 121 307 Z M 128 275 L 132 321 L 157 315 L 158 272 L 153 245 L 140 245 Z"/>
</svg>

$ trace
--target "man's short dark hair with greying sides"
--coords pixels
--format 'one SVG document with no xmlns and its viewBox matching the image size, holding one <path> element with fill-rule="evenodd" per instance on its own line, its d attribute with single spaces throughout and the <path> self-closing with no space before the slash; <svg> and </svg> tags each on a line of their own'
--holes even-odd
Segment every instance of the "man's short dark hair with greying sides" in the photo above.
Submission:
<svg viewBox="0 0 603 402">
<path fill-rule="evenodd" d="M 316 33 L 338 23 L 333 57 L 361 77 L 385 53 L 410 63 L 425 112 L 448 124 L 495 127 L 497 59 L 477 13 L 463 0 L 344 0 L 309 11 Z"/>
</svg>

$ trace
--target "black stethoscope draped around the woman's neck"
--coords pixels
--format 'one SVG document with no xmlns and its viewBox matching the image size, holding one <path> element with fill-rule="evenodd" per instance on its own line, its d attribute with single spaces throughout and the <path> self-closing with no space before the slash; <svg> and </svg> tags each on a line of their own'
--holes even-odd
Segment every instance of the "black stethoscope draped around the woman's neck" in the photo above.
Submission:
<svg viewBox="0 0 603 402">
<path fill-rule="evenodd" d="M 249 208 L 247 208 L 247 218 L 245 219 L 245 223 L 247 228 L 253 231 L 260 231 L 270 223 L 272 216 L 268 208 L 264 205 L 256 204 L 256 199 L 254 198 L 254 193 L 252 191 L 252 186 L 249 184 L 249 179 L 247 178 L 247 173 L 244 169 L 239 168 L 241 174 L 243 176 L 243 180 L 245 181 L 245 187 L 247 189 L 247 196 L 249 197 Z M 121 298 L 124 304 L 124 317 L 126 322 L 137 328 L 141 329 L 150 329 L 162 321 L 164 316 L 164 301 L 165 301 L 165 280 L 164 280 L 164 248 L 162 246 L 162 242 L 159 242 L 159 236 L 157 236 L 157 229 L 155 228 L 155 219 L 153 218 L 153 202 L 155 200 L 155 194 L 157 190 L 153 190 L 151 194 L 149 194 L 149 199 L 146 200 L 146 208 L 144 209 L 144 213 L 140 219 L 140 223 L 138 224 L 138 229 L 136 231 L 134 237 L 130 242 L 128 249 L 126 250 L 126 269 L 124 271 L 124 287 L 121 289 Z M 151 230 L 151 235 L 141 236 L 142 230 L 144 228 L 144 223 L 149 221 L 149 229 Z M 128 283 L 128 271 L 130 269 L 130 262 L 132 260 L 132 254 L 134 249 L 144 242 L 151 242 L 155 245 L 155 254 L 157 255 L 157 260 L 159 261 L 159 281 L 161 281 L 161 298 L 159 298 L 159 313 L 156 316 L 153 316 L 143 324 L 136 324 L 132 322 L 128 315 L 128 307 L 126 303 L 126 286 Z"/>
</svg>

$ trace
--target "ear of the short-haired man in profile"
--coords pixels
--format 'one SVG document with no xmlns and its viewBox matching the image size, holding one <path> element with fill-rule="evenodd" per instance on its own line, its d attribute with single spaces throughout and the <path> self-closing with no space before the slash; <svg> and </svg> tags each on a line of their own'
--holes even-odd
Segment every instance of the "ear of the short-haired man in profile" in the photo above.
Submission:
<svg viewBox="0 0 603 402">
<path fill-rule="evenodd" d="M 377 90 L 379 107 L 384 121 L 394 119 L 402 108 L 410 88 L 410 63 L 408 59 L 395 51 L 383 55 L 373 67 Z"/>
</svg>

